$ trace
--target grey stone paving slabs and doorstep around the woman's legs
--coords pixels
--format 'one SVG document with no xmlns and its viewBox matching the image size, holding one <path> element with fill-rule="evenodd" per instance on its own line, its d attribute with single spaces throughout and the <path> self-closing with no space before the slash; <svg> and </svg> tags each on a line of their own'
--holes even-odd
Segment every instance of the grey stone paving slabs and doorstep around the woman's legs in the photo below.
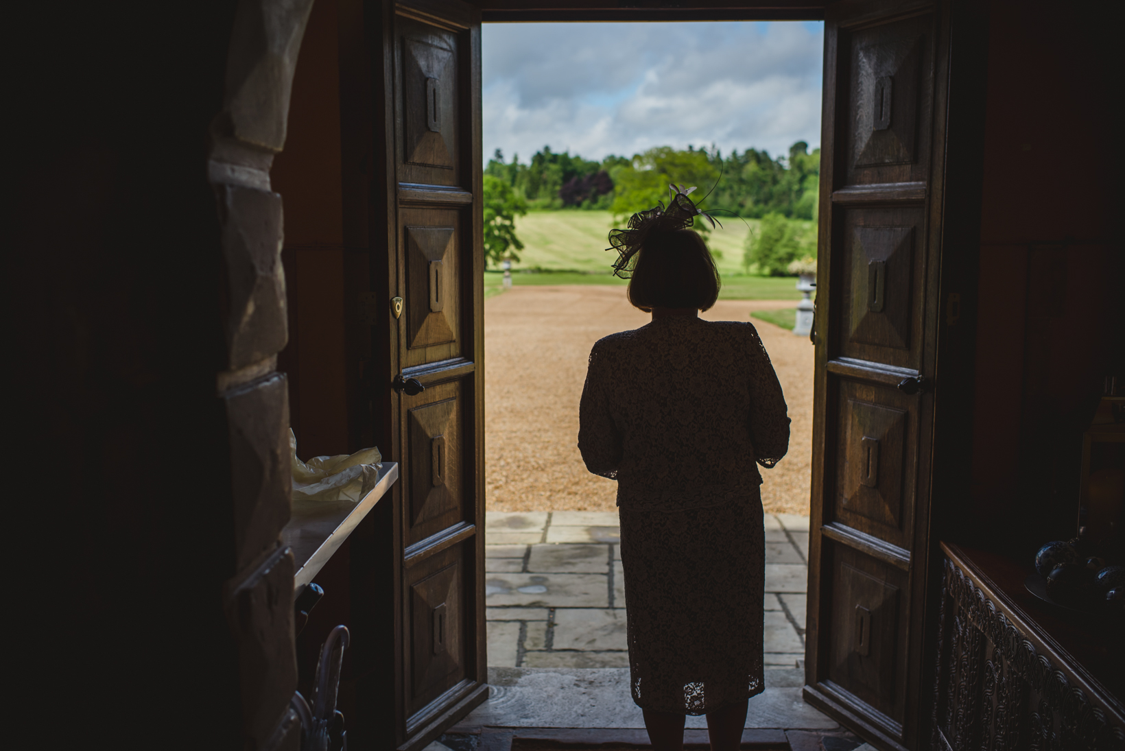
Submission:
<svg viewBox="0 0 1125 751">
<path fill-rule="evenodd" d="M 490 697 L 428 751 L 646 748 L 616 513 L 489 512 L 486 524 Z M 801 697 L 809 517 L 767 514 L 765 527 L 766 690 L 750 700 L 744 748 L 849 751 L 861 741 Z M 688 717 L 685 741 L 705 745 L 705 727 Z"/>
</svg>

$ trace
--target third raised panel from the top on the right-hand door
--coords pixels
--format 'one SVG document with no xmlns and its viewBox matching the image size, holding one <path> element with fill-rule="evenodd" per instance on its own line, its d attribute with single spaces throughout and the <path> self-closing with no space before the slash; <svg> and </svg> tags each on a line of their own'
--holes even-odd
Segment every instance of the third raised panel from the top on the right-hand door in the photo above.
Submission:
<svg viewBox="0 0 1125 751">
<path fill-rule="evenodd" d="M 902 514 L 902 460 L 907 413 L 848 400 L 844 437 L 844 508 L 898 527 Z"/>
</svg>

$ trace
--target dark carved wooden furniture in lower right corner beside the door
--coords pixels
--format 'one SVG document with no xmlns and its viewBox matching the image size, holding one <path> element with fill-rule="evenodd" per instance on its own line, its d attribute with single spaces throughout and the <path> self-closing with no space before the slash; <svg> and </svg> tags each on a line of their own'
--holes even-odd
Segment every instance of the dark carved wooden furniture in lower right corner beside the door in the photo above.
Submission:
<svg viewBox="0 0 1125 751">
<path fill-rule="evenodd" d="M 942 551 L 932 748 L 1125 749 L 1122 623 L 1036 600 L 1029 567 Z"/>
</svg>

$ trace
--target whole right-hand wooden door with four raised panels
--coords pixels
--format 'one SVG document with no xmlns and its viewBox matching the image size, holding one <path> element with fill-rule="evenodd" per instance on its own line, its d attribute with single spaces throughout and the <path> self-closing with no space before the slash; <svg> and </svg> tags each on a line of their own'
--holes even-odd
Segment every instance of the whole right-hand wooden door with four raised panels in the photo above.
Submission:
<svg viewBox="0 0 1125 751">
<path fill-rule="evenodd" d="M 825 30 L 806 697 L 886 749 L 920 700 L 943 22 L 842 2 Z"/>
</svg>

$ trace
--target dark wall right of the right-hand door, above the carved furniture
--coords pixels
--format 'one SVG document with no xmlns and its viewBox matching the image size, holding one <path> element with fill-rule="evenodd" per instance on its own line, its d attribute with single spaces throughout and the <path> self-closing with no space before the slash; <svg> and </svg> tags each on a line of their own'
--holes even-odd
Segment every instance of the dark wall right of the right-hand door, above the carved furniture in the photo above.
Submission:
<svg viewBox="0 0 1125 751">
<path fill-rule="evenodd" d="M 1089 11 L 991 6 L 963 532 L 1019 554 L 1074 534 L 1081 433 L 1123 364 L 1114 44 Z"/>
</svg>

